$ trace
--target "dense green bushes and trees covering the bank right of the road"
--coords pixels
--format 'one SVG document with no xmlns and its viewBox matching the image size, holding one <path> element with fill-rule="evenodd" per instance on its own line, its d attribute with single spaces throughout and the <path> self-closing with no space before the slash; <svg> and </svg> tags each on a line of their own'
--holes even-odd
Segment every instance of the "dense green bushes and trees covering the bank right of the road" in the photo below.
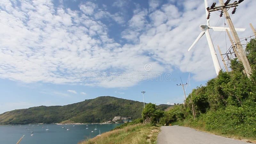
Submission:
<svg viewBox="0 0 256 144">
<path fill-rule="evenodd" d="M 231 60 L 230 72 L 221 72 L 205 86 L 194 89 L 184 105 L 164 112 L 161 124 L 183 124 L 238 138 L 256 139 L 256 40 L 246 47 L 252 67 L 247 78 L 243 65 Z M 194 118 L 195 116 L 195 118 Z"/>
</svg>

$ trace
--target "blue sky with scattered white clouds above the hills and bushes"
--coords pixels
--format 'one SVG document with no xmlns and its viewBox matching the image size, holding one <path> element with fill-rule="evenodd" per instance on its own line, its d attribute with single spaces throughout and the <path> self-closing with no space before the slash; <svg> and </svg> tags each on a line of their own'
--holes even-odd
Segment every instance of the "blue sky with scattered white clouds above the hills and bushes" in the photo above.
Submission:
<svg viewBox="0 0 256 144">
<path fill-rule="evenodd" d="M 255 6 L 229 10 L 243 44 Z M 210 25 L 228 27 L 219 14 Z M 203 0 L 1 0 L 0 18 L 0 113 L 107 95 L 143 101 L 141 91 L 146 103 L 182 103 L 180 77 L 186 94 L 216 77 L 205 36 L 188 52 L 206 24 Z M 210 34 L 225 53 L 225 32 Z"/>
</svg>

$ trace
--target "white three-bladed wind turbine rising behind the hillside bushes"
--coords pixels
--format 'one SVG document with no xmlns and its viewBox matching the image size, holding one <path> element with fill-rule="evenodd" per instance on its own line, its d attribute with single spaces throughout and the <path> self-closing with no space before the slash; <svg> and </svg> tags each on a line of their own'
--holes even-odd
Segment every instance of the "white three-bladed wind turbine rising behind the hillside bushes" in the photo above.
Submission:
<svg viewBox="0 0 256 144">
<path fill-rule="evenodd" d="M 216 3 L 215 3 L 216 4 Z M 206 17 L 208 16 L 207 13 L 207 7 L 208 7 L 208 4 L 207 4 L 207 0 L 204 0 L 204 5 L 205 5 L 205 13 L 206 13 Z M 221 70 L 220 68 L 220 62 L 218 60 L 218 57 L 217 57 L 217 54 L 215 52 L 215 49 L 214 49 L 214 46 L 213 46 L 213 43 L 212 43 L 212 38 L 211 38 L 211 35 L 209 33 L 209 29 L 212 28 L 213 31 L 226 31 L 226 29 L 228 31 L 230 31 L 229 28 L 224 28 L 224 27 L 211 27 L 210 26 L 210 19 L 207 19 L 207 25 L 200 25 L 200 29 L 202 30 L 202 32 L 199 34 L 199 36 L 196 38 L 195 42 L 190 46 L 190 48 L 188 49 L 188 51 L 191 50 L 191 48 L 198 42 L 198 40 L 205 34 L 206 35 L 206 38 L 207 38 L 207 42 L 208 42 L 208 45 L 209 45 L 209 48 L 210 48 L 210 52 L 211 52 L 211 55 L 212 55 L 212 60 L 213 60 L 213 65 L 214 65 L 214 68 L 215 68 L 215 71 L 216 71 L 216 74 L 218 75 L 219 74 L 219 71 Z M 245 28 L 236 28 L 236 31 L 244 31 Z"/>
</svg>

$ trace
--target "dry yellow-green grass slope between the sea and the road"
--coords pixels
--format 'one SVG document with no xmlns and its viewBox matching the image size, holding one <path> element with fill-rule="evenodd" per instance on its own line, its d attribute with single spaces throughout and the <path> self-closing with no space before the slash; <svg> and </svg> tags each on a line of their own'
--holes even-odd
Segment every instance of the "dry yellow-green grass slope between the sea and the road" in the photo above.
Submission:
<svg viewBox="0 0 256 144">
<path fill-rule="evenodd" d="M 160 127 L 135 124 L 102 133 L 78 144 L 156 144 Z"/>
</svg>

